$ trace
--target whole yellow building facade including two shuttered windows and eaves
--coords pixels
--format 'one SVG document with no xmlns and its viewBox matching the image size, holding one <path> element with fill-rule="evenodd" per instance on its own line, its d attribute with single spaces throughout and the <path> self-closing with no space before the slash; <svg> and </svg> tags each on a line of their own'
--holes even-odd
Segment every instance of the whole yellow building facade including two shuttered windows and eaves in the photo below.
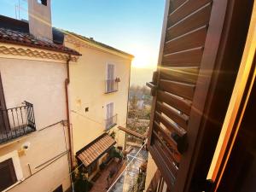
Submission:
<svg viewBox="0 0 256 192">
<path fill-rule="evenodd" d="M 115 146 L 125 149 L 125 132 L 118 126 L 126 126 L 133 56 L 72 32 L 65 32 L 64 42 L 82 54 L 79 61 L 70 66 L 73 153 L 77 154 L 103 133 L 112 135 Z M 95 171 L 102 159 L 106 159 L 106 153 L 100 156 L 94 161 Z"/>
</svg>

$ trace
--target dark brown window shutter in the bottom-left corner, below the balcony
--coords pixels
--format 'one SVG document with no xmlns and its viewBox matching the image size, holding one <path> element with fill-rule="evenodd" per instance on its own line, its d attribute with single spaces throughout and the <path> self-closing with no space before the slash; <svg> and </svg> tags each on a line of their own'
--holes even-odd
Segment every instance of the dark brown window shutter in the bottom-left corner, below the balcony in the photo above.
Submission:
<svg viewBox="0 0 256 192">
<path fill-rule="evenodd" d="M 13 160 L 4 160 L 0 163 L 0 191 L 17 182 Z"/>
</svg>

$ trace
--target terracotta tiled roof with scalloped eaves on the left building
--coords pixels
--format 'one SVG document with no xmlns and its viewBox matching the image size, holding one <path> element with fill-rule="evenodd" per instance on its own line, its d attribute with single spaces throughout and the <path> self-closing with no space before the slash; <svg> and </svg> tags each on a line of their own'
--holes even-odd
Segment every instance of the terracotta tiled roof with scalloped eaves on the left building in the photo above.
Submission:
<svg viewBox="0 0 256 192">
<path fill-rule="evenodd" d="M 80 55 L 76 50 L 69 49 L 62 44 L 54 44 L 48 41 L 39 40 L 31 34 L 15 32 L 6 28 L 0 28 L 0 42 L 7 44 L 20 44 L 38 49 L 49 49 L 71 55 Z"/>
</svg>

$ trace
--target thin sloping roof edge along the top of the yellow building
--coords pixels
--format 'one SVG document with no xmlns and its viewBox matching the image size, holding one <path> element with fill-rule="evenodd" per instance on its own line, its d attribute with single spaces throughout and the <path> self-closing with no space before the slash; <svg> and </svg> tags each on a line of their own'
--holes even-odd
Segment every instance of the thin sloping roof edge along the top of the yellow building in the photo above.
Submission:
<svg viewBox="0 0 256 192">
<path fill-rule="evenodd" d="M 101 46 L 102 48 L 110 49 L 110 50 L 113 50 L 113 51 L 118 52 L 118 53 L 123 54 L 123 55 L 127 55 L 127 56 L 132 57 L 132 58 L 134 57 L 134 55 L 128 54 L 125 51 L 122 51 L 120 49 L 113 48 L 112 46 L 109 46 L 108 44 L 102 44 L 101 42 L 98 42 L 98 41 L 94 40 L 93 38 L 86 38 L 86 37 L 84 37 L 82 35 L 79 35 L 75 32 L 68 32 L 66 30 L 61 30 L 61 31 L 66 33 L 66 34 L 73 35 L 74 37 L 80 38 L 84 41 L 87 41 L 90 44 L 96 44 L 96 45 Z"/>
</svg>

